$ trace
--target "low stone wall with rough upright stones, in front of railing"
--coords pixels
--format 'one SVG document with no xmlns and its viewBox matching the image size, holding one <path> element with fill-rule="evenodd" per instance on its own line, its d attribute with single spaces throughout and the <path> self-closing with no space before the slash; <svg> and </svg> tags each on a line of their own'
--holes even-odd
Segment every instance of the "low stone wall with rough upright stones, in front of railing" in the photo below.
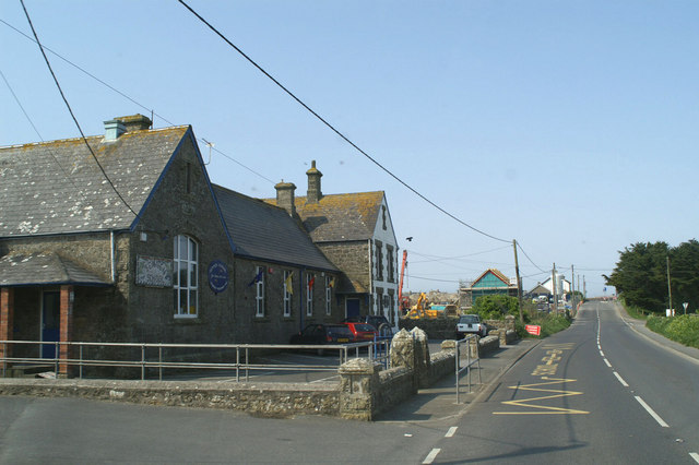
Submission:
<svg viewBox="0 0 699 465">
<path fill-rule="evenodd" d="M 476 343 L 478 351 L 499 347 L 496 336 Z M 483 343 L 483 344 L 482 344 Z M 224 408 L 268 417 L 328 415 L 370 421 L 454 372 L 455 341 L 430 355 L 427 334 L 400 331 L 391 343 L 391 366 L 356 358 L 339 369 L 340 384 L 216 383 L 197 381 L 107 381 L 75 379 L 0 379 L 0 395 L 84 397 L 147 405 Z"/>
</svg>

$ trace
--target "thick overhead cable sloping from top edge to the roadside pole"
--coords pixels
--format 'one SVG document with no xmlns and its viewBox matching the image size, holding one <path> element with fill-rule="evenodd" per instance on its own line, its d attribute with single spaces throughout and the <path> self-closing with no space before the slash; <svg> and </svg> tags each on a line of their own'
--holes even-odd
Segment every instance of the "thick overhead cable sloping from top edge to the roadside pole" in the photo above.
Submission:
<svg viewBox="0 0 699 465">
<path fill-rule="evenodd" d="M 489 235 L 481 229 L 477 229 L 473 226 L 471 226 L 470 224 L 465 223 L 464 220 L 458 218 L 457 216 L 452 215 L 451 213 L 447 212 L 445 208 L 442 208 L 441 206 L 437 205 L 435 202 L 433 202 L 431 200 L 427 199 L 425 195 L 423 195 L 420 192 L 418 192 L 416 189 L 414 189 L 412 186 L 410 186 L 407 182 L 403 181 L 401 178 L 399 178 L 396 175 L 394 175 L 391 170 L 389 170 L 388 168 L 386 168 L 383 165 L 381 165 L 378 160 L 376 160 L 374 157 L 371 157 L 368 153 L 366 153 L 365 151 L 363 151 L 362 148 L 359 148 L 359 146 L 357 144 L 355 144 L 354 142 L 352 142 L 347 136 L 345 136 L 342 132 L 340 132 L 334 126 L 332 126 L 330 122 L 328 122 L 324 118 L 322 118 L 320 115 L 318 115 L 313 109 L 311 109 L 308 105 L 306 105 L 300 98 L 298 98 L 293 92 L 291 92 L 288 88 L 286 88 L 281 82 L 279 82 L 274 76 L 272 76 L 270 73 L 268 73 L 262 67 L 260 67 L 254 60 L 252 60 L 250 57 L 248 57 L 240 48 L 238 48 L 235 44 L 233 44 L 225 35 L 223 35 L 223 33 L 221 33 L 218 29 L 216 29 L 211 23 L 209 23 L 206 20 L 204 20 L 199 13 L 197 13 L 190 5 L 188 5 L 183 0 L 178 0 L 187 10 L 189 10 L 194 16 L 197 16 L 199 19 L 199 21 L 201 21 L 202 23 L 204 23 L 211 31 L 213 31 L 218 37 L 221 37 L 226 44 L 228 44 L 234 50 L 236 50 L 238 53 L 240 53 L 240 56 L 242 56 L 242 58 L 245 58 L 246 60 L 248 60 L 248 62 L 250 62 L 250 64 L 252 64 L 254 68 L 257 68 L 262 74 L 264 74 L 266 78 L 269 78 L 274 84 L 276 84 L 282 91 L 284 91 L 289 97 L 292 97 L 294 100 L 296 100 L 301 107 L 304 107 L 306 110 L 308 110 L 313 117 L 316 117 L 320 122 L 322 122 L 323 124 L 325 124 L 325 127 L 328 127 L 331 131 L 333 131 L 335 134 L 337 134 L 343 141 L 345 141 L 346 143 L 348 143 L 351 146 L 353 146 L 357 152 L 359 152 L 362 155 L 364 155 L 366 158 L 368 158 L 371 163 L 374 163 L 376 166 L 378 166 L 379 168 L 381 168 L 386 174 L 388 174 L 390 177 L 392 177 L 393 179 L 395 179 L 398 182 L 400 182 L 401 184 L 403 184 L 406 189 L 408 189 L 411 192 L 413 192 L 415 195 L 419 196 L 420 199 L 423 199 L 425 202 L 427 202 L 428 204 L 430 204 L 431 206 L 434 206 L 435 208 L 437 208 L 438 211 L 440 211 L 441 213 L 443 213 L 445 215 L 449 216 L 450 218 L 454 219 L 457 223 L 483 235 L 486 237 L 489 237 L 490 239 L 494 240 L 498 240 L 500 242 L 510 242 L 509 240 L 506 239 L 500 239 L 499 237 Z"/>
</svg>

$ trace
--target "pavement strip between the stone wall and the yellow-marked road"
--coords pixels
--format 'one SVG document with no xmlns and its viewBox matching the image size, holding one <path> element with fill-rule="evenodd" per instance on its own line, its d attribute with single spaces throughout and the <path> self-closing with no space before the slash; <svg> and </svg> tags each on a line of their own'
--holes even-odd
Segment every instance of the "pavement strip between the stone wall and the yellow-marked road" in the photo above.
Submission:
<svg viewBox="0 0 699 465">
<path fill-rule="evenodd" d="M 462 372 L 460 375 L 459 403 L 457 403 L 454 373 L 443 377 L 428 389 L 419 390 L 408 401 L 378 415 L 375 421 L 438 424 L 464 415 L 472 404 L 489 395 L 500 377 L 540 343 L 540 339 L 520 339 L 513 344 L 500 346 L 498 350 L 481 358 L 479 366 L 473 366 L 471 392 L 469 392 L 469 374 Z"/>
</svg>

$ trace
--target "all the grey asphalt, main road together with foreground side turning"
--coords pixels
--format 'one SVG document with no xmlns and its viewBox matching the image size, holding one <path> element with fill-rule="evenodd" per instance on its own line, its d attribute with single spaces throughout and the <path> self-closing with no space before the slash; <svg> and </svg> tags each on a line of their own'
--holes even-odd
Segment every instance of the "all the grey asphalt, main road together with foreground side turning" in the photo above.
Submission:
<svg viewBox="0 0 699 465">
<path fill-rule="evenodd" d="M 479 402 L 449 397 L 454 414 L 435 421 L 0 396 L 0 464 L 692 464 L 698 390 L 695 359 L 637 334 L 612 305 L 588 303 Z"/>
</svg>

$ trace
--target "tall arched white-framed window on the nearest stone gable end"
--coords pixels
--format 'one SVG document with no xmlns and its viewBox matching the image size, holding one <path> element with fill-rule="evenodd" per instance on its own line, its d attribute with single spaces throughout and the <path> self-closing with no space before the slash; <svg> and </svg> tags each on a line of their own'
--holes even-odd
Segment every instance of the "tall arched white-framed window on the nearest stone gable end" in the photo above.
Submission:
<svg viewBox="0 0 699 465">
<path fill-rule="evenodd" d="M 185 247 L 181 257 L 180 247 Z M 178 235 L 173 243 L 173 289 L 175 318 L 199 317 L 199 245 L 189 236 Z M 182 276 L 182 273 L 185 275 Z M 185 283 L 182 283 L 185 281 Z M 182 302 L 182 297 L 187 300 Z"/>
</svg>

